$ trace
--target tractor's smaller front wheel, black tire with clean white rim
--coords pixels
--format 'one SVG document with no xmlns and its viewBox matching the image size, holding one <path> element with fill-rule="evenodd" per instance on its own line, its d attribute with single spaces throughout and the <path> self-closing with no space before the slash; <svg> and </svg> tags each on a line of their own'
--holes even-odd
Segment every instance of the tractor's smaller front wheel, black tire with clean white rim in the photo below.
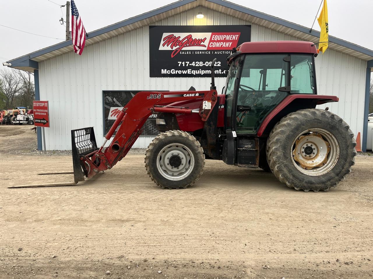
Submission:
<svg viewBox="0 0 373 279">
<path fill-rule="evenodd" d="M 145 153 L 145 168 L 151 180 L 162 188 L 192 186 L 203 173 L 205 155 L 195 137 L 173 130 L 159 134 Z"/>
</svg>

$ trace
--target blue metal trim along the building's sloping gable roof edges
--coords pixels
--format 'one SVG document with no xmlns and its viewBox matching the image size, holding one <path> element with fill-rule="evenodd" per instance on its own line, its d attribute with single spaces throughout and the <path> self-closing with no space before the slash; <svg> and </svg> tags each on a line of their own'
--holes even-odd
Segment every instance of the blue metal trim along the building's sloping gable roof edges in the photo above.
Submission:
<svg viewBox="0 0 373 279">
<path fill-rule="evenodd" d="M 144 13 L 142 15 L 135 16 L 135 17 L 132 17 L 130 19 L 126 19 L 126 20 L 123 20 L 121 22 L 115 23 L 113 25 L 98 29 L 98 30 L 93 31 L 91 33 L 88 33 L 87 38 L 93 38 L 95 36 L 102 35 L 104 33 L 116 30 L 118 28 L 122 28 L 124 26 L 130 25 L 130 24 L 138 22 L 140 20 L 144 20 L 144 19 L 147 19 L 149 17 L 159 15 L 160 13 L 168 12 L 172 9 L 184 6 L 184 5 L 192 3 L 194 1 L 196 1 L 196 0 L 177 1 L 177 2 L 169 4 L 167 6 L 160 7 L 159 9 L 150 11 L 148 13 Z M 320 37 L 320 32 L 311 31 L 311 33 L 310 33 L 309 28 L 301 26 L 301 25 L 297 25 L 297 24 L 292 23 L 292 22 L 288 22 L 288 21 L 283 20 L 283 19 L 279 19 L 278 17 L 266 15 L 264 13 L 257 12 L 255 10 L 251 10 L 251 9 L 248 9 L 248 8 L 245 8 L 245 7 L 242 7 L 242 6 L 238 6 L 236 4 L 233 4 L 233 3 L 230 3 L 230 2 L 227 2 L 227 1 L 223 1 L 223 0 L 206 0 L 206 1 L 218 4 L 218 5 L 221 5 L 223 7 L 227 7 L 229 9 L 233 9 L 233 10 L 236 10 L 236 11 L 239 11 L 239 12 L 242 12 L 242 13 L 246 13 L 248 15 L 252 15 L 252 16 L 264 19 L 264 20 L 268 20 L 268 21 L 273 22 L 273 23 L 278 23 L 280 25 L 283 25 L 283 26 L 288 27 L 288 28 L 292 28 L 294 30 L 297 30 L 297 31 L 300 31 L 300 32 L 303 32 L 303 33 L 307 33 L 307 34 L 310 34 L 310 35 L 313 35 L 313 36 L 316 36 L 316 37 Z M 358 45 L 352 44 L 350 42 L 347 42 L 347 41 L 344 41 L 344 40 L 341 40 L 341 39 L 338 39 L 338 38 L 335 38 L 335 37 L 332 37 L 332 36 L 329 36 L 329 41 L 333 42 L 335 44 L 342 45 L 344 47 L 353 49 L 355 51 L 359 51 L 363 54 L 366 54 L 366 55 L 369 55 L 369 56 L 373 57 L 373 51 L 370 50 L 370 49 L 360 47 Z M 41 49 L 39 51 L 32 52 L 31 54 L 24 55 L 22 57 L 15 58 L 15 59 L 7 61 L 7 62 L 12 63 L 12 66 L 13 66 L 13 65 L 16 65 L 16 64 L 18 64 L 20 62 L 23 62 L 25 60 L 32 59 L 32 58 L 38 57 L 40 55 L 47 54 L 49 52 L 55 51 L 57 49 L 67 47 L 71 44 L 72 44 L 71 40 L 64 41 L 64 42 L 61 42 L 59 44 L 53 45 L 51 47 L 47 47 L 47 48 Z"/>
</svg>

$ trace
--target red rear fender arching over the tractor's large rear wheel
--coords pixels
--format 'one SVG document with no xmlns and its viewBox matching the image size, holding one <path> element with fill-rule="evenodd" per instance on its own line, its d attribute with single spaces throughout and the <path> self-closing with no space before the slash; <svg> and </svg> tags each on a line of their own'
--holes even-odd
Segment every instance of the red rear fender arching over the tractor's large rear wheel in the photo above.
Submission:
<svg viewBox="0 0 373 279">
<path fill-rule="evenodd" d="M 275 109 L 273 109 L 264 119 L 258 130 L 258 137 L 267 137 L 281 118 L 291 112 L 300 109 L 316 108 L 317 105 L 322 105 L 329 102 L 338 102 L 337 96 L 330 95 L 311 95 L 311 94 L 291 94 L 283 99 Z"/>
</svg>

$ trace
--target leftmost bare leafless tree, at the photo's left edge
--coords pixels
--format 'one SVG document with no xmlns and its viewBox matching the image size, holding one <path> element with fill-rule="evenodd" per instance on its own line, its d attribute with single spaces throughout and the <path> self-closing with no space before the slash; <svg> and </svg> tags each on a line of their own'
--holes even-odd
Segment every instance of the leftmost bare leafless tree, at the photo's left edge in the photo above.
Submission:
<svg viewBox="0 0 373 279">
<path fill-rule="evenodd" d="M 23 86 L 22 78 L 15 70 L 0 70 L 0 92 L 5 97 L 5 109 L 12 108 L 15 96 L 21 92 Z"/>
</svg>

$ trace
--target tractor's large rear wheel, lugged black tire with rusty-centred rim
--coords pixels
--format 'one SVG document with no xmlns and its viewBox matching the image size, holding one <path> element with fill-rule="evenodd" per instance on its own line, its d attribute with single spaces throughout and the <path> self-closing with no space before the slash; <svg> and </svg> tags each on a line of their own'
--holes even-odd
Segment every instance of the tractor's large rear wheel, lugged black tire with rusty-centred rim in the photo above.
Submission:
<svg viewBox="0 0 373 279">
<path fill-rule="evenodd" d="M 289 113 L 272 129 L 267 160 L 280 182 L 296 190 L 327 191 L 351 172 L 356 142 L 339 116 L 321 109 Z"/>
</svg>

